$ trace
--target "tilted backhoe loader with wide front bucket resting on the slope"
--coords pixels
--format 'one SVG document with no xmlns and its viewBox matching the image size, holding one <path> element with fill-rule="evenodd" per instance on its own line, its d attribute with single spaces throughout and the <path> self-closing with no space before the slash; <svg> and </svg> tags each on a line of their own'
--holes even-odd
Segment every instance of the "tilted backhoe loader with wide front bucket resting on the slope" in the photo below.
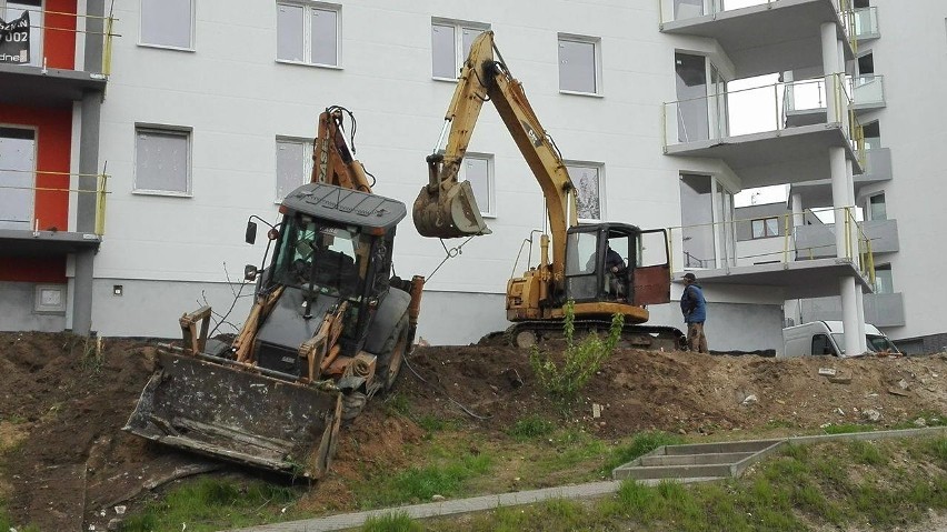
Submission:
<svg viewBox="0 0 947 532">
<path fill-rule="evenodd" d="M 317 479 L 339 428 L 389 391 L 417 329 L 425 279 L 391 277 L 405 203 L 376 195 L 343 131 L 346 109 L 319 117 L 310 182 L 267 225 L 262 265 L 248 264 L 253 305 L 232 342 L 208 339 L 211 308 L 179 320 L 123 430 L 246 465 Z M 272 249 L 272 255 L 267 257 Z"/>
</svg>

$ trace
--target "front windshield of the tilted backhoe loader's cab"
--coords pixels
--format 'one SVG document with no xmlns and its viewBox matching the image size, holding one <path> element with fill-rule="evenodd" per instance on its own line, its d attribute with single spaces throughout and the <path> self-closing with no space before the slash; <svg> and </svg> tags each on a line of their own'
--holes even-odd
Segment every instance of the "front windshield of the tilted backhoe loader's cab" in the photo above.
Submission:
<svg viewBox="0 0 947 532">
<path fill-rule="evenodd" d="M 273 280 L 331 295 L 358 298 L 368 237 L 358 228 L 320 223 L 309 217 L 288 219 L 276 254 Z"/>
</svg>

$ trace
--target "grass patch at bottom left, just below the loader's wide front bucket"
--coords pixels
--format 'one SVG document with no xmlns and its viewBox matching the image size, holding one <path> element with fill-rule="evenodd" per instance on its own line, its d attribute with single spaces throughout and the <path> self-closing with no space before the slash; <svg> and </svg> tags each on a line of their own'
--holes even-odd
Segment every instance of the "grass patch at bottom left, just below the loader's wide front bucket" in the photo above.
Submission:
<svg viewBox="0 0 947 532">
<path fill-rule="evenodd" d="M 282 509 L 295 501 L 297 490 L 255 482 L 241 485 L 229 480 L 201 478 L 170 491 L 161 501 L 149 502 L 130 515 L 123 532 L 153 530 L 189 531 L 220 530 L 228 526 L 249 526 L 286 519 Z"/>
</svg>

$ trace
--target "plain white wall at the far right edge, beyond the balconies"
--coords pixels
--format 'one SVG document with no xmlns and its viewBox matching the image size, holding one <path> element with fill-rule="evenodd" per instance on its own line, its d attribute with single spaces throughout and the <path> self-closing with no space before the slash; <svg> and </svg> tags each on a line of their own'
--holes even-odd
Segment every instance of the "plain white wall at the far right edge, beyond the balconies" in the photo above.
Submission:
<svg viewBox="0 0 947 532">
<path fill-rule="evenodd" d="M 906 325 L 886 330 L 891 338 L 945 331 L 931 312 L 944 290 L 931 275 L 947 263 L 944 228 L 943 162 L 947 143 L 944 102 L 947 94 L 947 2 L 943 0 L 873 0 L 881 38 L 859 47 L 871 50 L 875 73 L 885 77 L 887 107 L 864 118 L 878 119 L 881 145 L 891 149 L 894 179 L 883 183 L 889 219 L 898 221 L 900 250 L 890 260 L 894 289 L 903 292 Z"/>
</svg>

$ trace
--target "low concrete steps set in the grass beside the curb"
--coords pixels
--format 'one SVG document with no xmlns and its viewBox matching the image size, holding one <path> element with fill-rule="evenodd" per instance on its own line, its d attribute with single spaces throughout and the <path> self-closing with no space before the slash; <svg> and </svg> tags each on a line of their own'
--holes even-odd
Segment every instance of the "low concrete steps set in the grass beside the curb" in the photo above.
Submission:
<svg viewBox="0 0 947 532">
<path fill-rule="evenodd" d="M 739 476 L 749 465 L 784 444 L 786 440 L 664 445 L 615 468 L 611 478 L 714 480 Z"/>
</svg>

